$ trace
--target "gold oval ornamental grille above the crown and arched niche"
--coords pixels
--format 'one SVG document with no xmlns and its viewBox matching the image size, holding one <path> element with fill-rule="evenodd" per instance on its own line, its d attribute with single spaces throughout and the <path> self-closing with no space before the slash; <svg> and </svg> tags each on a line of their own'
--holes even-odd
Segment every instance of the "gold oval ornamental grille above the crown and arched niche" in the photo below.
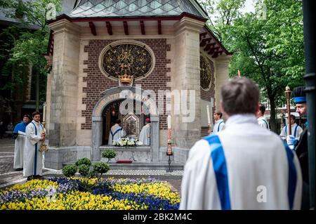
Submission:
<svg viewBox="0 0 316 224">
<path fill-rule="evenodd" d="M 103 74 L 112 79 L 122 75 L 140 79 L 150 74 L 154 66 L 153 53 L 146 45 L 138 43 L 114 43 L 103 49 L 99 60 Z"/>
</svg>

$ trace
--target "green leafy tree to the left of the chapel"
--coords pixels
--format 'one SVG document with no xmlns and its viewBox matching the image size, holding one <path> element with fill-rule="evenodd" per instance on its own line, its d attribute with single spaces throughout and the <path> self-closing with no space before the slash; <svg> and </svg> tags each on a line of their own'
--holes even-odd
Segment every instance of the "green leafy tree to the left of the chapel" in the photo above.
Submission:
<svg viewBox="0 0 316 224">
<path fill-rule="evenodd" d="M 5 61 L 1 75 L 11 77 L 3 86 L 3 89 L 11 91 L 22 91 L 21 84 L 25 83 L 27 68 L 37 73 L 41 81 L 39 89 L 41 92 L 37 98 L 46 98 L 46 59 L 44 54 L 47 51 L 49 29 L 46 25 L 47 18 L 51 13 L 60 11 L 59 0 L 21 1 L 21 0 L 0 0 L 0 7 L 6 9 L 6 16 L 20 21 L 19 25 L 13 25 L 3 30 L 3 36 L 14 37 L 13 44 L 1 52 L 1 59 Z M 1 43 L 2 44 L 2 43 Z M 37 108 L 38 109 L 38 108 Z"/>
</svg>

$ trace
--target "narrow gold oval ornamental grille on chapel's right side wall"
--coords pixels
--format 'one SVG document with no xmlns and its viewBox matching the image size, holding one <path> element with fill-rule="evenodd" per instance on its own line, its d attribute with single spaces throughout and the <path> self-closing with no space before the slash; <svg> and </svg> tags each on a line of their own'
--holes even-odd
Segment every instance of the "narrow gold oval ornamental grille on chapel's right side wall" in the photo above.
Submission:
<svg viewBox="0 0 316 224">
<path fill-rule="evenodd" d="M 200 82 L 201 86 L 204 90 L 208 91 L 211 88 L 211 81 L 214 77 L 214 65 L 211 60 L 200 55 L 199 57 L 199 65 L 200 65 Z"/>
</svg>

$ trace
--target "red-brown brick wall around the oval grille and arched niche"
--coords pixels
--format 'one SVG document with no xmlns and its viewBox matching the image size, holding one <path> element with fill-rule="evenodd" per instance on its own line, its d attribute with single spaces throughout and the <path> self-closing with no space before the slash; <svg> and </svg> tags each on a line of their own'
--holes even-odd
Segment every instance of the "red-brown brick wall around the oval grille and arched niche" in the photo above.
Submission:
<svg viewBox="0 0 316 224">
<path fill-rule="evenodd" d="M 149 76 L 145 79 L 134 81 L 133 85 L 141 84 L 143 89 L 154 91 L 156 98 L 158 98 L 159 89 L 171 90 L 170 87 L 166 87 L 166 83 L 170 81 L 170 77 L 167 77 L 167 72 L 170 72 L 170 68 L 167 68 L 166 64 L 171 63 L 171 60 L 166 58 L 166 52 L 171 51 L 171 46 L 166 44 L 166 39 L 137 39 L 137 41 L 147 44 L 152 49 L 156 64 Z M 81 114 L 83 117 L 86 117 L 86 123 L 81 124 L 81 129 L 91 129 L 91 115 L 93 108 L 100 100 L 100 93 L 108 88 L 118 86 L 118 81 L 112 81 L 105 77 L 98 66 L 101 51 L 112 42 L 112 40 L 94 39 L 84 46 L 84 52 L 88 53 L 88 60 L 84 60 L 84 65 L 87 65 L 87 68 L 84 69 L 87 76 L 83 80 L 86 82 L 86 87 L 83 88 L 86 98 L 82 98 L 82 103 L 86 105 L 86 110 L 82 110 Z M 160 115 L 159 129 L 167 129 L 166 117 L 166 115 Z"/>
</svg>

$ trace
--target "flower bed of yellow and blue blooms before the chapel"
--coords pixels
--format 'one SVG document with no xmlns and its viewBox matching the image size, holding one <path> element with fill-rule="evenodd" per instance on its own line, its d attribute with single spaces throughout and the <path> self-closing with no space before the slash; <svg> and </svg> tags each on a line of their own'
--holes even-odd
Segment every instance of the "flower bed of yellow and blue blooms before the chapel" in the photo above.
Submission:
<svg viewBox="0 0 316 224">
<path fill-rule="evenodd" d="M 153 178 L 88 180 L 95 185 L 86 192 L 84 178 L 30 180 L 0 191 L 0 209 L 91 210 L 178 209 L 180 195 L 169 183 Z"/>
</svg>

